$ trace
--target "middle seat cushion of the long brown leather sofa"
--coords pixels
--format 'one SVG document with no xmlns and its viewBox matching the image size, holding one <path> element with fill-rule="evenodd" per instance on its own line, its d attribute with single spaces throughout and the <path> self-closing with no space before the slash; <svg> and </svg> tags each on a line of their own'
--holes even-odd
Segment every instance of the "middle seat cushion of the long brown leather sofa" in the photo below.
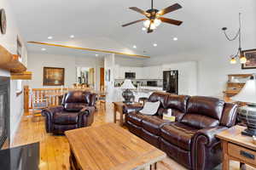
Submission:
<svg viewBox="0 0 256 170">
<path fill-rule="evenodd" d="M 150 133 L 160 135 L 160 127 L 168 123 L 170 122 L 161 119 L 159 116 L 145 116 L 142 121 L 142 127 Z"/>
</svg>

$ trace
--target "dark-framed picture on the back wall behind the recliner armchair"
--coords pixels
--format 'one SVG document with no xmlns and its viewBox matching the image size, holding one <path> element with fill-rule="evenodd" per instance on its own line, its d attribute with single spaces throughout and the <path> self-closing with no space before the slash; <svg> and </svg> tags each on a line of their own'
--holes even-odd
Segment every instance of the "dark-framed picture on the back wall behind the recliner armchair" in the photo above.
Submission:
<svg viewBox="0 0 256 170">
<path fill-rule="evenodd" d="M 44 67 L 44 86 L 63 86 L 64 68 Z"/>
</svg>

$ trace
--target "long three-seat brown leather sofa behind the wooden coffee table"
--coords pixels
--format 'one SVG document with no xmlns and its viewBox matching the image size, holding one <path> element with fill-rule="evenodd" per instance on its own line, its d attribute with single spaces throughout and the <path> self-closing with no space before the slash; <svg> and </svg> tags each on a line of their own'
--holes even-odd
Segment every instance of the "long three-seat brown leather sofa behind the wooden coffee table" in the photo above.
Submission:
<svg viewBox="0 0 256 170">
<path fill-rule="evenodd" d="M 125 115 L 125 123 L 131 133 L 164 150 L 189 169 L 210 170 L 221 163 L 221 144 L 215 134 L 236 123 L 237 105 L 211 97 L 166 93 L 151 94 L 148 100 L 160 101 L 155 116 L 139 113 L 141 108 L 126 106 L 130 113 Z M 162 119 L 167 109 L 172 109 L 176 122 Z"/>
</svg>

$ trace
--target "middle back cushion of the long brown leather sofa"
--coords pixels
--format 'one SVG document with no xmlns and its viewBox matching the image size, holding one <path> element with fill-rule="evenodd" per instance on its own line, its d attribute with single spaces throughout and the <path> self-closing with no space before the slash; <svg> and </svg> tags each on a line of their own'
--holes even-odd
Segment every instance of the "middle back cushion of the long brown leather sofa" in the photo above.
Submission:
<svg viewBox="0 0 256 170">
<path fill-rule="evenodd" d="M 186 112 L 187 102 L 189 96 L 186 95 L 168 95 L 168 99 L 166 100 L 166 107 L 172 110 L 181 111 L 183 113 Z"/>
</svg>

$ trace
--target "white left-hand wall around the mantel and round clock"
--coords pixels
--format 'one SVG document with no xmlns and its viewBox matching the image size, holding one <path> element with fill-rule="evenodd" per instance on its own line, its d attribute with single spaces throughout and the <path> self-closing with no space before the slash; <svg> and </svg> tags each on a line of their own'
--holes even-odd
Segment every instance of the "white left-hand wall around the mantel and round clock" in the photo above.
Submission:
<svg viewBox="0 0 256 170">
<path fill-rule="evenodd" d="M 16 25 L 14 11 L 9 5 L 8 0 L 0 1 L 1 8 L 5 9 L 7 17 L 7 31 L 5 35 L 0 34 L 0 44 L 9 50 L 11 54 L 17 54 L 17 36 L 19 35 L 22 43 L 22 62 L 26 65 L 26 43 L 20 35 L 18 26 Z M 1 59 L 1 57 L 0 57 Z M 0 69 L 0 76 L 9 77 L 9 71 Z M 10 142 L 15 137 L 17 127 L 19 127 L 20 119 L 23 114 L 23 94 L 16 96 L 16 83 L 17 81 L 10 82 Z"/>
</svg>

